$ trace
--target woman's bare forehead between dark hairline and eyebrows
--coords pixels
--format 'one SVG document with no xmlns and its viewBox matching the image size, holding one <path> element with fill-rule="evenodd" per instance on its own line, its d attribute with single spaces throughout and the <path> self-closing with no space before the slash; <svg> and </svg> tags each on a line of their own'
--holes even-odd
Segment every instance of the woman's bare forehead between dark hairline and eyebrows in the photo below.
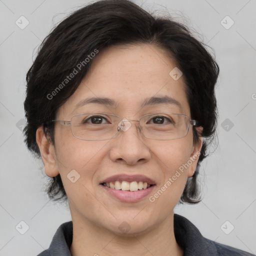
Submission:
<svg viewBox="0 0 256 256">
<path fill-rule="evenodd" d="M 105 103 L 134 113 L 142 106 L 172 105 L 172 109 L 189 114 L 183 77 L 175 80 L 169 74 L 175 67 L 169 54 L 152 44 L 111 46 L 94 57 L 90 70 L 59 112 L 70 116 L 86 106 L 102 107 Z M 111 105 L 109 100 L 89 98 L 108 98 Z"/>
</svg>

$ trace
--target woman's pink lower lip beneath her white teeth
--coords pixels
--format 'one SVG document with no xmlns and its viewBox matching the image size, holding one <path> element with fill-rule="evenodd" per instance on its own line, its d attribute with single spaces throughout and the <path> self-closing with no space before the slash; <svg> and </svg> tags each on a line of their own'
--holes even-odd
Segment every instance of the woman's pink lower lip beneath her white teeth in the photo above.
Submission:
<svg viewBox="0 0 256 256">
<path fill-rule="evenodd" d="M 114 189 L 114 188 L 104 186 L 101 184 L 100 184 L 100 186 L 102 186 L 102 188 L 106 192 L 110 193 L 113 197 L 119 199 L 120 201 L 135 202 L 135 201 L 138 201 L 138 200 L 142 199 L 143 197 L 147 196 L 152 191 L 152 189 L 154 189 L 155 185 L 152 185 L 146 189 L 141 189 L 141 190 L 137 190 L 137 191 L 129 191 L 129 190 L 123 191 L 121 189 L 118 190 L 118 189 Z"/>
</svg>

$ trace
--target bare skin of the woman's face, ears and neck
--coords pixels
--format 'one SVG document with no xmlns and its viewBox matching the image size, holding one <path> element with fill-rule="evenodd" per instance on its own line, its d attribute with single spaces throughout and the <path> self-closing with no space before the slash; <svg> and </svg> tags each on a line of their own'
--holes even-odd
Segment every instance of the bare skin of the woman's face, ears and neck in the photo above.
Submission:
<svg viewBox="0 0 256 256">
<path fill-rule="evenodd" d="M 169 75 L 175 66 L 163 49 L 152 44 L 104 49 L 94 57 L 76 91 L 59 107 L 56 119 L 70 120 L 73 114 L 88 109 L 128 119 L 161 111 L 191 117 L 183 77 L 174 80 Z M 145 97 L 159 95 L 173 97 L 181 109 L 170 104 L 140 108 Z M 118 105 L 90 103 L 74 109 L 81 99 L 92 96 L 112 98 Z M 127 131 L 110 140 L 88 141 L 75 138 L 70 126 L 56 123 L 55 147 L 46 139 L 42 127 L 37 129 L 36 141 L 45 173 L 50 177 L 60 173 L 67 193 L 73 221 L 72 256 L 183 255 L 174 237 L 173 208 L 187 177 L 194 173 L 198 157 L 154 202 L 148 197 L 200 151 L 202 140 L 193 145 L 191 125 L 185 137 L 173 140 L 145 138 L 136 125 L 132 122 Z M 72 169 L 80 175 L 74 183 L 66 177 Z M 117 173 L 144 174 L 155 180 L 156 186 L 137 202 L 119 201 L 99 187 L 100 180 Z M 131 227 L 128 233 L 118 228 L 123 221 Z"/>
</svg>

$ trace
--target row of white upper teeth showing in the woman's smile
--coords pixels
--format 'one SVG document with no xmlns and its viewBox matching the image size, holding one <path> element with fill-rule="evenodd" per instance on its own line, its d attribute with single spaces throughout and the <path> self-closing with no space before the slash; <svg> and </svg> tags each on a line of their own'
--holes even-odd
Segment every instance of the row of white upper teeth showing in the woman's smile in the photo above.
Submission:
<svg viewBox="0 0 256 256">
<path fill-rule="evenodd" d="M 147 182 L 142 182 L 142 181 L 128 182 L 124 180 L 121 182 L 119 180 L 116 180 L 114 182 L 106 182 L 106 183 L 103 183 L 103 185 L 114 188 L 114 189 L 118 189 L 118 190 L 130 190 L 130 191 L 146 189 L 150 186 L 150 184 L 148 184 Z"/>
</svg>

